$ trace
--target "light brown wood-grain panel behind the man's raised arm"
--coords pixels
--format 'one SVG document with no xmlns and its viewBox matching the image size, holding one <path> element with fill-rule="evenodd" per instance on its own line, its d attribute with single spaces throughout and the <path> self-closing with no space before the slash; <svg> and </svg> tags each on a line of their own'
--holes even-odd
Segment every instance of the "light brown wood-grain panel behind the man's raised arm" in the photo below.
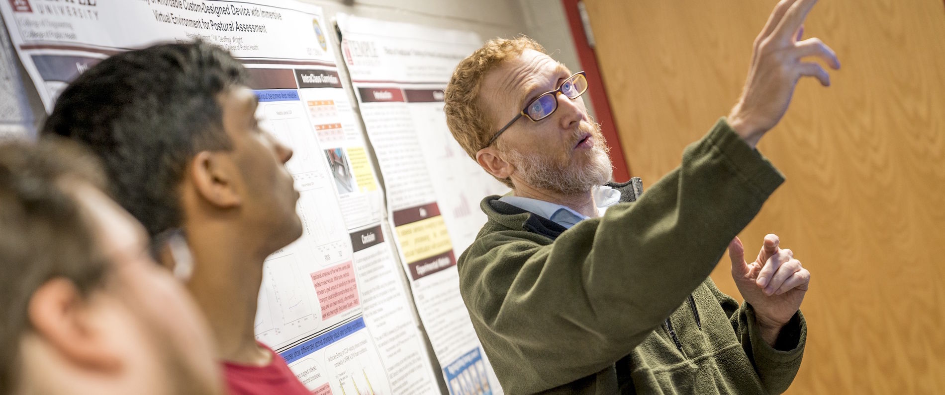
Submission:
<svg viewBox="0 0 945 395">
<path fill-rule="evenodd" d="M 728 114 L 774 0 L 585 0 L 621 145 L 652 184 Z M 945 8 L 823 0 L 805 36 L 843 65 L 801 81 L 759 149 L 787 175 L 741 237 L 812 272 L 792 394 L 945 393 Z M 713 278 L 739 297 L 726 256 Z"/>
</svg>

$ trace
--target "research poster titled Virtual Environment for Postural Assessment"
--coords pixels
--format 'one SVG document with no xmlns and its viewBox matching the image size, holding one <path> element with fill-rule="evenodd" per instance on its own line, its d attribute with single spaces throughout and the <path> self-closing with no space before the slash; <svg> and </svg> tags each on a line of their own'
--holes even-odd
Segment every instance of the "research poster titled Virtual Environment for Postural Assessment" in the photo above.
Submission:
<svg viewBox="0 0 945 395">
<path fill-rule="evenodd" d="M 270 255 L 254 322 L 313 393 L 430 393 L 434 368 L 413 314 L 375 173 L 321 8 L 294 1 L 0 1 L 51 110 L 78 74 L 113 54 L 202 40 L 249 71 L 266 131 L 293 149 L 301 239 Z"/>
</svg>

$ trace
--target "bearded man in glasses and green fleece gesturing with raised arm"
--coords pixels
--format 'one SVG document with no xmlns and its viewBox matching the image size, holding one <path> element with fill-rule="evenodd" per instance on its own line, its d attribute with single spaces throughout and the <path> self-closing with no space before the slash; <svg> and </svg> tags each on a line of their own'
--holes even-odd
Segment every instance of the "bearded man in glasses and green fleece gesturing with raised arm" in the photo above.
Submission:
<svg viewBox="0 0 945 395">
<path fill-rule="evenodd" d="M 527 38 L 493 40 L 446 90 L 455 139 L 512 193 L 459 258 L 460 290 L 507 393 L 780 393 L 800 365 L 810 282 L 775 235 L 747 263 L 735 238 L 783 182 L 755 150 L 801 76 L 839 68 L 799 41 L 816 0 L 782 0 L 742 98 L 643 195 L 610 159 L 573 74 Z M 708 278 L 730 249 L 745 304 Z"/>
</svg>

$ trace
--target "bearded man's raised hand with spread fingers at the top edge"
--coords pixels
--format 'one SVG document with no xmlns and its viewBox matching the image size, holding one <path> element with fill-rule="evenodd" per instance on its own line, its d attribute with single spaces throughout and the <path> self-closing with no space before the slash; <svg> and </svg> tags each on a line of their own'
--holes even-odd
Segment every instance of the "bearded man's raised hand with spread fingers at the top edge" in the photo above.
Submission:
<svg viewBox="0 0 945 395">
<path fill-rule="evenodd" d="M 830 74 L 803 58 L 819 58 L 834 70 L 840 68 L 833 49 L 823 41 L 800 41 L 804 19 L 816 2 L 782 0 L 755 39 L 745 90 L 729 114 L 732 129 L 751 147 L 781 121 L 800 77 L 813 76 L 821 85 L 830 86 Z"/>
</svg>

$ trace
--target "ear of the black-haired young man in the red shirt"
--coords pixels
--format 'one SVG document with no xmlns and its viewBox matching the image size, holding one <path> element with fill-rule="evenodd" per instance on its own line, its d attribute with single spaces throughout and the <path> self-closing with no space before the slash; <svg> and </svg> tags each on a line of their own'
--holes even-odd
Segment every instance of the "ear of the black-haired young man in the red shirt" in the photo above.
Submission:
<svg viewBox="0 0 945 395">
<path fill-rule="evenodd" d="M 225 154 L 199 152 L 191 161 L 188 175 L 198 195 L 211 205 L 229 208 L 242 203 L 235 183 L 238 171 Z"/>
</svg>

